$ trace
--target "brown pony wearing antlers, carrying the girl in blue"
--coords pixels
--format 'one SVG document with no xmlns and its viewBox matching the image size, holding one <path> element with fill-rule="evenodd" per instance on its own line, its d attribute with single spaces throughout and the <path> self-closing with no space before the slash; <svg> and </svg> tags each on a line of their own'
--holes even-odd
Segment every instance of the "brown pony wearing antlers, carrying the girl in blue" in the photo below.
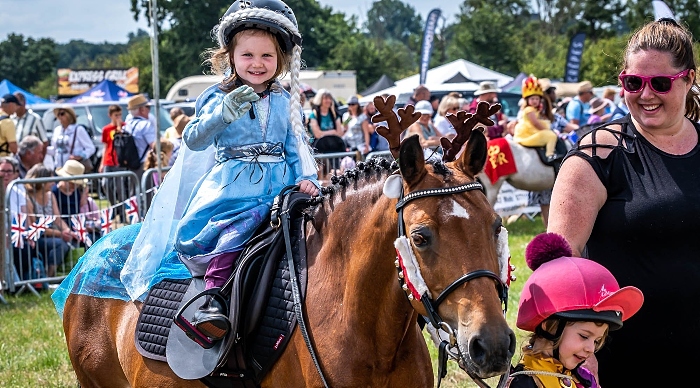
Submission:
<svg viewBox="0 0 700 388">
<path fill-rule="evenodd" d="M 455 161 L 427 163 L 417 138 L 399 147 L 401 128 L 415 115 L 408 107 L 400 111 L 399 123 L 391 113 L 393 102 L 380 104 L 384 116 L 377 120 L 389 121 L 391 129 L 383 131 L 399 157 L 400 175 L 393 176 L 400 177 L 403 191 L 401 217 L 397 199 L 383 195 L 391 191 L 384 188 L 391 173 L 388 163 L 363 163 L 324 188 L 324 201 L 307 225 L 304 309 L 323 376 L 330 387 L 433 386 L 431 359 L 417 321 L 419 314 L 430 315 L 425 301 L 435 298 L 442 299 L 432 304 L 435 316 L 453 331 L 460 365 L 478 378 L 506 373 L 515 338 L 497 292 L 502 283 L 491 275 L 463 276 L 500 272 L 496 243 L 501 221 L 480 190 L 453 190 L 475 181 L 486 159 L 485 138 L 473 131 Z M 399 226 L 405 228 L 410 248 L 398 251 L 404 264 L 413 260 L 420 278 L 406 270 L 397 276 Z M 427 288 L 423 302 L 413 292 L 421 286 Z M 64 329 L 81 386 L 203 386 L 179 379 L 167 363 L 136 351 L 139 309 L 138 303 L 68 297 Z M 262 386 L 323 386 L 299 328 Z"/>
</svg>

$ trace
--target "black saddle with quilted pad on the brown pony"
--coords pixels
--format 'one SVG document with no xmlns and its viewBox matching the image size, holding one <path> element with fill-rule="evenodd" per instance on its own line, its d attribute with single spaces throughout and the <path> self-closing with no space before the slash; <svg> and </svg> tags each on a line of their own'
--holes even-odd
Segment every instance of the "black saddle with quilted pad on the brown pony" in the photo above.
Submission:
<svg viewBox="0 0 700 388">
<path fill-rule="evenodd" d="M 221 290 L 203 291 L 202 278 L 166 279 L 155 285 L 136 328 L 139 352 L 147 358 L 167 361 L 179 377 L 200 379 L 209 387 L 258 387 L 282 355 L 297 324 L 285 240 L 291 244 L 303 298 L 304 211 L 314 203 L 310 196 L 285 188 L 275 198 L 269 222 L 261 225 L 241 252 L 231 278 Z M 285 217 L 280 217 L 283 213 Z M 289 223 L 288 239 L 282 220 Z M 227 336 L 217 342 L 198 335 L 188 319 L 203 297 L 213 292 L 227 299 L 231 322 Z"/>
</svg>

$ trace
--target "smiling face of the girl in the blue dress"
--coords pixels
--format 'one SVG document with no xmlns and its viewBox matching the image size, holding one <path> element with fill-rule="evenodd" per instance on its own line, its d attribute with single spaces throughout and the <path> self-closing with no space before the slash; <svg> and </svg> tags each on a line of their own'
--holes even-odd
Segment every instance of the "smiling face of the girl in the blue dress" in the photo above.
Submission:
<svg viewBox="0 0 700 388">
<path fill-rule="evenodd" d="M 277 72 L 277 46 L 272 38 L 253 31 L 242 31 L 233 49 L 236 74 L 244 84 L 261 93 Z"/>
</svg>

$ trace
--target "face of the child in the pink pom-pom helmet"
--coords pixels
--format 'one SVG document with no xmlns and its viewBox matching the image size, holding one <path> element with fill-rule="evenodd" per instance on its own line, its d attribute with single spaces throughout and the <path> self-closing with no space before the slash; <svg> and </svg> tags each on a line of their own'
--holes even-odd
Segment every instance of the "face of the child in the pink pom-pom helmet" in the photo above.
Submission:
<svg viewBox="0 0 700 388">
<path fill-rule="evenodd" d="M 566 325 L 559 345 L 559 361 L 566 369 L 576 368 L 595 353 L 607 329 L 607 323 L 573 322 Z"/>
</svg>

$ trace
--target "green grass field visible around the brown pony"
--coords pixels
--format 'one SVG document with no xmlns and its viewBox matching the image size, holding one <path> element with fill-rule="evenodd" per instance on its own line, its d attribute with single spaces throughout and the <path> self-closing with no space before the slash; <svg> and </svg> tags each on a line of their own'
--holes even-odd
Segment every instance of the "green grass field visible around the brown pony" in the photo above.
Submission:
<svg viewBox="0 0 700 388">
<path fill-rule="evenodd" d="M 507 226 L 512 263 L 517 280 L 511 284 L 507 320 L 518 337 L 525 334 L 515 328 L 518 297 L 530 273 L 523 257 L 525 246 L 544 231 L 539 218 L 534 222 L 520 219 Z M 39 298 L 29 293 L 18 297 L 6 295 L 8 304 L 0 304 L 0 386 L 3 388 L 77 387 L 65 346 L 63 327 L 48 293 Z M 437 351 L 428 341 L 433 360 Z M 519 350 L 516 352 L 516 358 Z M 433 365 L 437 371 L 435 363 Z M 491 386 L 495 384 L 489 382 Z M 448 364 L 445 388 L 476 387 L 456 363 Z"/>
</svg>

